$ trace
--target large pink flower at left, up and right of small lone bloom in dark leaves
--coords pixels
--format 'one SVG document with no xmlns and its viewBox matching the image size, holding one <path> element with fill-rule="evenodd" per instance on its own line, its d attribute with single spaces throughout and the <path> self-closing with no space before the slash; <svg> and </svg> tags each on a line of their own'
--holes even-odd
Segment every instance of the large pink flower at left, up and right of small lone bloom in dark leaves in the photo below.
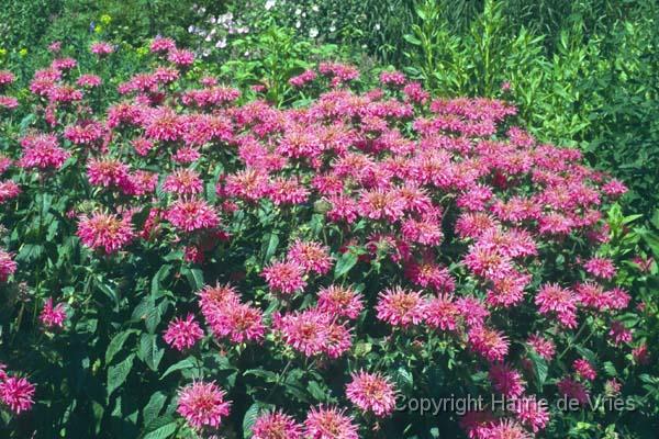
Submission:
<svg viewBox="0 0 659 439">
<path fill-rule="evenodd" d="M 113 254 L 135 237 L 130 218 L 119 218 L 113 214 L 94 213 L 78 222 L 78 236 L 91 249 L 102 248 Z"/>
</svg>

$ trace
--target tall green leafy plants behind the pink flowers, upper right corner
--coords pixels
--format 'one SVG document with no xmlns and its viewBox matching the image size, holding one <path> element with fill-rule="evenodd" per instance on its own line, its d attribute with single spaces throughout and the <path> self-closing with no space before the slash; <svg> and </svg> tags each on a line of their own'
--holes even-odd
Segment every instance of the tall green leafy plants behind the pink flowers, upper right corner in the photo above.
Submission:
<svg viewBox="0 0 659 439">
<path fill-rule="evenodd" d="M 443 95 L 513 100 L 532 132 L 580 146 L 593 166 L 630 185 L 633 209 L 651 212 L 659 201 L 659 167 L 648 166 L 659 160 L 659 8 L 517 3 L 488 0 L 474 12 L 420 2 L 405 35 L 406 71 Z M 522 14 L 512 13 L 515 4 Z"/>
</svg>

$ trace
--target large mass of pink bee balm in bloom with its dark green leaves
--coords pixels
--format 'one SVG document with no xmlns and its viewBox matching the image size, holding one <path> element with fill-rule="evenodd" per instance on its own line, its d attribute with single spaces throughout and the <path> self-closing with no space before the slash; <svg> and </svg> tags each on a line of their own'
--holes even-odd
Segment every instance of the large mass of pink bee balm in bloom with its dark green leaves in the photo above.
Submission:
<svg viewBox="0 0 659 439">
<path fill-rule="evenodd" d="M 171 40 L 150 50 L 121 81 L 58 57 L 1 110 L 8 431 L 593 437 L 651 416 L 589 406 L 645 407 L 644 303 L 618 282 L 635 255 L 606 250 L 622 182 L 502 101 L 399 72 L 362 90 L 328 61 L 277 108 Z M 467 396 L 488 397 L 404 404 Z M 563 396 L 574 412 L 543 404 Z"/>
</svg>

